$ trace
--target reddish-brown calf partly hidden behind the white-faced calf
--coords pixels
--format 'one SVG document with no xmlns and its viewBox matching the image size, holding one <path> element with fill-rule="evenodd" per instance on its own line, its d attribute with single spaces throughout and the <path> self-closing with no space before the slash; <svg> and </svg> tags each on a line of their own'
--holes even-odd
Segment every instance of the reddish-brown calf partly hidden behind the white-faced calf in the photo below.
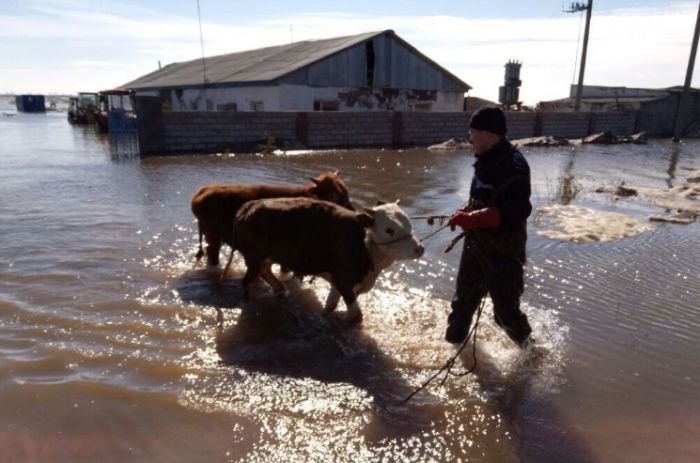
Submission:
<svg viewBox="0 0 700 463">
<path fill-rule="evenodd" d="M 204 255 L 202 235 L 207 239 L 207 262 L 219 265 L 223 243 L 232 245 L 233 219 L 247 201 L 262 198 L 298 197 L 331 201 L 352 209 L 348 190 L 338 172 L 326 172 L 304 187 L 283 185 L 213 184 L 199 189 L 192 197 L 192 213 L 199 224 L 197 262 Z"/>
</svg>

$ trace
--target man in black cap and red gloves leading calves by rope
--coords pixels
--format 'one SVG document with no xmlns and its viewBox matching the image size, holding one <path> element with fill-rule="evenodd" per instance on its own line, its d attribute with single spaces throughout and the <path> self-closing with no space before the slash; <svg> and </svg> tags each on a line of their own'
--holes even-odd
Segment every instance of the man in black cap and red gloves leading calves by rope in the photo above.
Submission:
<svg viewBox="0 0 700 463">
<path fill-rule="evenodd" d="M 496 323 L 520 347 L 532 331 L 520 311 L 530 204 L 530 167 L 505 138 L 503 111 L 482 108 L 469 123 L 476 162 L 467 207 L 450 218 L 466 232 L 445 339 L 462 342 L 474 312 L 491 294 Z"/>
</svg>

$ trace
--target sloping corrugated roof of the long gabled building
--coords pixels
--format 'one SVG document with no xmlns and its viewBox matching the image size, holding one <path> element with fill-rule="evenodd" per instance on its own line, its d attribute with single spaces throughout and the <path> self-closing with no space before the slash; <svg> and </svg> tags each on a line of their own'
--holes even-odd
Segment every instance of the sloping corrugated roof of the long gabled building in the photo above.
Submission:
<svg viewBox="0 0 700 463">
<path fill-rule="evenodd" d="M 381 34 L 391 34 L 401 42 L 406 43 L 398 38 L 393 31 L 387 30 L 332 39 L 295 42 L 288 45 L 212 56 L 204 59 L 207 75 L 206 83 L 207 85 L 217 85 L 274 81 Z M 411 48 L 467 89 L 470 88 L 468 84 L 462 82 L 449 71 L 422 55 L 415 48 Z M 168 64 L 121 87 L 149 89 L 200 85 L 202 85 L 202 59 L 198 58 L 183 63 Z"/>
</svg>

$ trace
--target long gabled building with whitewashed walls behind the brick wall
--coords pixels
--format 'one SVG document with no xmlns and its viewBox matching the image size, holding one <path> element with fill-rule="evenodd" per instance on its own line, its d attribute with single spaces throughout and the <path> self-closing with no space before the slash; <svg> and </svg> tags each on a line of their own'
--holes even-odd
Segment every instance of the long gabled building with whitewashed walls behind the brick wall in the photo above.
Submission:
<svg viewBox="0 0 700 463">
<path fill-rule="evenodd" d="M 166 110 L 296 112 L 461 112 L 471 88 L 391 30 L 173 63 L 123 87 Z"/>
</svg>

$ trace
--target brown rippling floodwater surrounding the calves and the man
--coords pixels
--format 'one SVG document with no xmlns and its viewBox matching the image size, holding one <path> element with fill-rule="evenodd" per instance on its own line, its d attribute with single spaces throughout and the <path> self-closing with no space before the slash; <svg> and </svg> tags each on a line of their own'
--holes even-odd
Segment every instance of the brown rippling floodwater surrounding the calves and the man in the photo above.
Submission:
<svg viewBox="0 0 700 463">
<path fill-rule="evenodd" d="M 449 213 L 473 158 L 427 150 L 139 159 L 63 114 L 0 117 L 0 462 L 695 462 L 700 224 L 611 243 L 529 221 L 521 353 L 490 303 L 476 371 L 435 381 L 459 248 L 443 231 L 360 298 L 361 329 L 320 314 L 328 286 L 246 303 L 194 269 L 189 201 L 211 182 L 305 183 L 340 169 L 352 199 Z M 646 220 L 601 185 L 669 187 L 700 142 L 526 151 L 535 207 Z M 415 221 L 419 236 L 435 227 Z M 262 289 L 262 287 L 261 287 Z M 339 311 L 344 310 L 341 303 Z M 465 350 L 453 371 L 472 363 Z"/>
</svg>

